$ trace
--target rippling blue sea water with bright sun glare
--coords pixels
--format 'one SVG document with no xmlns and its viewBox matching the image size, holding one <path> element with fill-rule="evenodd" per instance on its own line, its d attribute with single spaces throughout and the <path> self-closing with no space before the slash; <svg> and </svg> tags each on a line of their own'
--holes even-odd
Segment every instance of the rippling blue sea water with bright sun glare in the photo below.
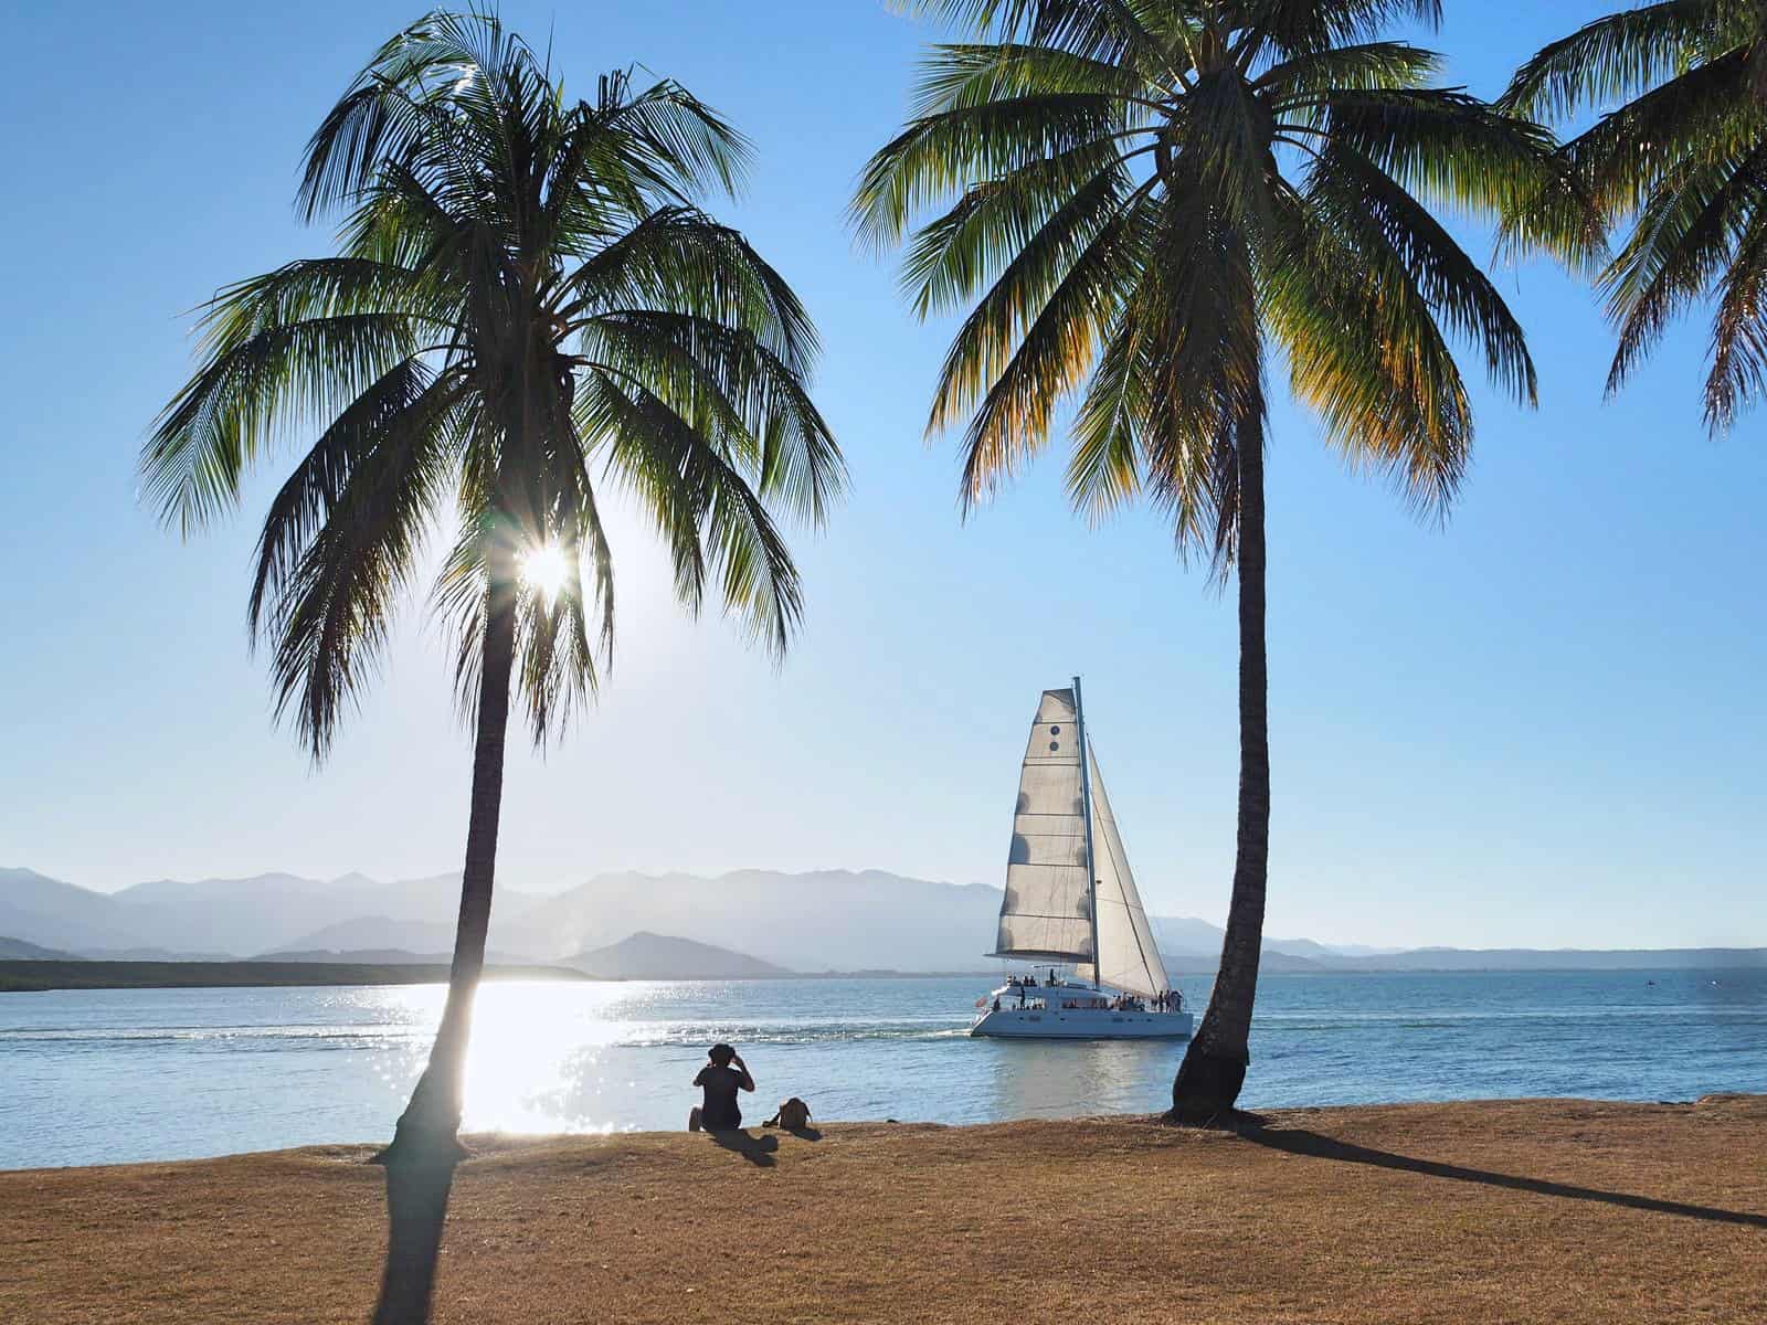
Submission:
<svg viewBox="0 0 1767 1325">
<path fill-rule="evenodd" d="M 673 1129 L 714 1041 L 760 1122 L 986 1122 L 1164 1106 L 1182 1042 L 965 1034 L 986 979 L 493 982 L 468 1131 Z M 1200 1011 L 1205 980 L 1182 989 Z M 0 995 L 0 1168 L 373 1141 L 442 986 Z M 1767 1092 L 1767 972 L 1267 975 L 1242 1104 Z"/>
</svg>

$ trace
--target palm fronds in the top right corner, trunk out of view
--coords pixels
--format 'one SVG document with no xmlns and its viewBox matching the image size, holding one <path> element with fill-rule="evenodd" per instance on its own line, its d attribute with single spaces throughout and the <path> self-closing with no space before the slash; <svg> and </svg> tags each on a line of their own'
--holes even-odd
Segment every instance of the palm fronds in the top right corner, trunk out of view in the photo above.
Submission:
<svg viewBox="0 0 1767 1325">
<path fill-rule="evenodd" d="M 1705 420 L 1723 433 L 1767 383 L 1767 9 L 1668 0 L 1610 14 L 1521 65 L 1500 104 L 1569 118 L 1617 101 L 1564 157 L 1631 233 L 1612 254 L 1550 226 L 1536 238 L 1596 269 L 1619 325 L 1610 394 L 1679 313 L 1710 302 Z"/>
</svg>

